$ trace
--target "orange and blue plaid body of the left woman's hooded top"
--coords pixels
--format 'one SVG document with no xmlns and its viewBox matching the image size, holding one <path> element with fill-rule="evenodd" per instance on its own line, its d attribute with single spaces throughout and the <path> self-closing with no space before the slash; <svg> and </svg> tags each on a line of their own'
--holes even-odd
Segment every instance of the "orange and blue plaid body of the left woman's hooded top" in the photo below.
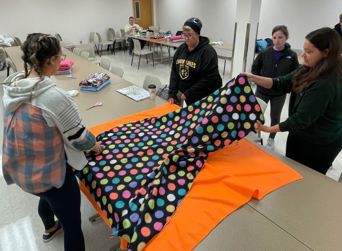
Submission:
<svg viewBox="0 0 342 251">
<path fill-rule="evenodd" d="M 2 172 L 7 184 L 40 193 L 61 187 L 66 172 L 64 141 L 56 126 L 49 127 L 41 109 L 22 104 L 4 109 Z"/>
</svg>

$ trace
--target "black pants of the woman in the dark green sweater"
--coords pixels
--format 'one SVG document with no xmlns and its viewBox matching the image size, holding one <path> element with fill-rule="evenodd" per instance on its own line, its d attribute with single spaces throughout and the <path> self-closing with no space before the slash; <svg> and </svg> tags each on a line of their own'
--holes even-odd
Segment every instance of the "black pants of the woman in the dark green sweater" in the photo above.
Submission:
<svg viewBox="0 0 342 251">
<path fill-rule="evenodd" d="M 324 145 L 310 143 L 295 133 L 289 133 L 286 141 L 286 157 L 322 174 L 326 174 L 341 150 L 342 135 L 337 140 Z"/>
</svg>

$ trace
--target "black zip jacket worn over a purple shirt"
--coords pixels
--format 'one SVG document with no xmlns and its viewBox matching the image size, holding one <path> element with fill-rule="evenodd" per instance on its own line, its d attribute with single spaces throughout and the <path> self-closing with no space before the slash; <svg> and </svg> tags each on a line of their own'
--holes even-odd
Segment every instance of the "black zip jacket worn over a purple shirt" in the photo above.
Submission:
<svg viewBox="0 0 342 251">
<path fill-rule="evenodd" d="M 299 63 L 297 53 L 295 51 L 285 45 L 284 54 L 280 57 L 278 63 L 276 63 L 272 48 L 273 46 L 270 46 L 260 51 L 252 65 L 252 74 L 262 77 L 276 78 L 285 76 L 298 68 Z M 261 86 L 257 86 L 257 90 L 270 96 L 283 95 L 281 92 L 266 89 Z"/>
</svg>

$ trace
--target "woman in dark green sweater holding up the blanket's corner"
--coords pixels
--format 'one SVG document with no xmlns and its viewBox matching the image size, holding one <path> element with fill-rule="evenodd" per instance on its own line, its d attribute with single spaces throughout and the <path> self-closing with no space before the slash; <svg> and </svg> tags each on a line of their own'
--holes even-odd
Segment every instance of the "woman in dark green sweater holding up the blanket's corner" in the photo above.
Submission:
<svg viewBox="0 0 342 251">
<path fill-rule="evenodd" d="M 289 118 L 271 127 L 258 122 L 258 130 L 288 131 L 286 157 L 326 174 L 342 149 L 341 42 L 325 27 L 310 32 L 303 48 L 304 66 L 286 76 L 244 74 L 262 87 L 291 92 Z"/>
</svg>

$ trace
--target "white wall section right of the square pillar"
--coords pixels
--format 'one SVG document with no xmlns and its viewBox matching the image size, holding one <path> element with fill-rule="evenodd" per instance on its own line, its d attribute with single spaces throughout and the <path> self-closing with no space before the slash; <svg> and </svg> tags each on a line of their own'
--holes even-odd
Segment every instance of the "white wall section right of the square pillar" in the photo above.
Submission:
<svg viewBox="0 0 342 251">
<path fill-rule="evenodd" d="M 305 36 L 321 27 L 339 23 L 342 0 L 262 0 L 258 39 L 271 38 L 275 25 L 289 29 L 288 43 L 303 48 Z"/>
</svg>

